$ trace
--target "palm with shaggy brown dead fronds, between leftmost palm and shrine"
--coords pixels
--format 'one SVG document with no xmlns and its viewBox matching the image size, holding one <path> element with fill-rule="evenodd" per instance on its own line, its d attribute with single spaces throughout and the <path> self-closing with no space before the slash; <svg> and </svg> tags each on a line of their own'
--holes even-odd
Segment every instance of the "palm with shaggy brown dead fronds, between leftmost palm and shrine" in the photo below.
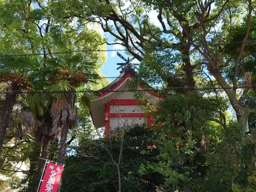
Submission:
<svg viewBox="0 0 256 192">
<path fill-rule="evenodd" d="M 60 134 L 58 162 L 64 163 L 68 130 L 74 128 L 78 120 L 78 97 L 75 91 L 82 87 L 86 89 L 88 83 L 97 83 L 99 75 L 95 71 L 98 65 L 86 61 L 82 54 L 63 53 L 55 58 L 46 59 L 45 66 L 50 70 L 46 71 L 46 78 L 52 81 L 50 114 L 53 127 L 48 134 Z M 81 103 L 89 103 L 86 95 L 80 95 L 79 99 L 83 100 Z"/>
</svg>

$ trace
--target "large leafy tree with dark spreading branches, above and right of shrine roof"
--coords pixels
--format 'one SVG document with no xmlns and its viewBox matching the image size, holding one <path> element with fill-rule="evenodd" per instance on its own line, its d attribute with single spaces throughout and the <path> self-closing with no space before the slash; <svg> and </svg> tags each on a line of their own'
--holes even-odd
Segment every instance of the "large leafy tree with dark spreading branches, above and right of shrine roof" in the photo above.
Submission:
<svg viewBox="0 0 256 192">
<path fill-rule="evenodd" d="M 230 0 L 204 2 L 130 0 L 128 2 L 129 5 L 125 7 L 125 2 L 121 0 L 117 3 L 110 0 L 93 2 L 63 0 L 56 2 L 55 7 L 59 18 L 76 17 L 81 22 L 89 20 L 98 23 L 103 31 L 110 33 L 116 39 L 113 44 L 126 47 L 132 56 L 143 61 L 142 68 L 145 67 L 151 74 L 161 76 L 168 87 L 174 89 L 176 87 L 179 93 L 192 94 L 196 88 L 194 72 L 197 69 L 207 70 L 229 97 L 231 106 L 237 113 L 237 120 L 244 132 L 247 132 L 250 111 L 243 102 L 251 88 L 244 88 L 244 93 L 239 97 L 237 90 L 238 87 L 246 85 L 244 75 L 249 75 L 251 71 L 249 68 L 244 68 L 244 75 L 238 71 L 242 68 L 245 48 L 255 44 L 253 42 L 255 29 L 252 24 L 255 2 L 248 0 L 245 7 L 242 7 L 241 2 Z M 152 10 L 157 12 L 157 18 L 154 19 L 158 20 L 160 26 L 150 22 L 149 12 Z M 242 20 L 240 12 L 247 15 L 246 20 Z M 243 34 L 236 39 L 236 42 L 240 42 L 236 44 L 233 43 L 235 39 L 230 37 L 233 36 L 233 29 L 240 24 L 234 23 L 242 23 L 246 26 L 240 28 Z M 215 30 L 217 25 L 221 30 Z M 223 42 L 225 45 L 233 45 L 232 50 L 236 54 L 225 53 L 222 46 L 219 46 Z M 107 44 L 111 43 L 107 42 Z M 171 56 L 171 58 L 168 59 L 168 65 L 164 62 L 161 63 L 162 65 L 159 63 L 156 65 L 152 61 L 146 63 L 147 57 L 154 55 Z M 194 63 L 193 56 L 197 58 L 200 56 L 201 59 L 197 59 Z M 184 78 L 175 76 L 176 65 L 179 66 L 178 71 L 184 74 Z M 225 75 L 227 67 L 234 74 L 231 83 Z"/>
</svg>

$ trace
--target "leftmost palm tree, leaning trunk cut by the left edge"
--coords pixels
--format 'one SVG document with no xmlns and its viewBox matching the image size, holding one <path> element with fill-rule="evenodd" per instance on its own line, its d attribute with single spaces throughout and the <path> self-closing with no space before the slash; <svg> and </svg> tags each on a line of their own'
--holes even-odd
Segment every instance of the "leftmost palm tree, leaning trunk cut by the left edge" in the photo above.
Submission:
<svg viewBox="0 0 256 192">
<path fill-rule="evenodd" d="M 15 54 L 15 53 L 14 53 Z M 3 96 L 0 120 L 0 153 L 3 149 L 4 138 L 10 125 L 13 107 L 20 97 L 19 92 L 33 90 L 33 72 L 40 68 L 38 56 L 11 56 L 0 58 L 0 83 Z M 27 113 L 27 115 L 30 115 Z M 25 116 L 19 116 L 26 121 Z"/>
</svg>

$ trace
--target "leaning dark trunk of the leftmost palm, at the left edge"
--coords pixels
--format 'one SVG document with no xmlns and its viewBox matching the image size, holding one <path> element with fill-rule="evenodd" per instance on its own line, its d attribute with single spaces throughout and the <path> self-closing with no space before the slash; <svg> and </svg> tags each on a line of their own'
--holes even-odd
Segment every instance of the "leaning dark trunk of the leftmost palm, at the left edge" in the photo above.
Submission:
<svg viewBox="0 0 256 192">
<path fill-rule="evenodd" d="M 16 94 L 8 93 L 6 94 L 5 101 L 2 107 L 1 121 L 0 121 L 0 154 L 4 145 L 4 137 L 7 129 L 10 125 L 10 116 L 12 113 L 12 107 L 16 101 Z"/>
</svg>

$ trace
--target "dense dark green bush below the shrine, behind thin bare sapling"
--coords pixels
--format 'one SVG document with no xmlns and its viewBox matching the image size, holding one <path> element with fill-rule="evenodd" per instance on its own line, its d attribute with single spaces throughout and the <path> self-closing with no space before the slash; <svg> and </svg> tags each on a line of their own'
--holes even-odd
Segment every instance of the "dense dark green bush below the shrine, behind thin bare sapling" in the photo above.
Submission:
<svg viewBox="0 0 256 192">
<path fill-rule="evenodd" d="M 110 140 L 105 138 L 87 139 L 78 144 L 76 154 L 66 159 L 61 191 L 109 191 L 118 189 L 118 171 L 113 161 L 120 156 L 120 132 L 115 132 Z M 154 148 L 154 133 L 144 127 L 127 127 L 123 138 L 122 160 L 120 164 L 121 190 L 155 191 L 161 178 L 159 174 L 139 176 L 140 163 L 157 161 L 159 149 Z M 148 154 L 147 151 L 152 151 Z"/>
</svg>

